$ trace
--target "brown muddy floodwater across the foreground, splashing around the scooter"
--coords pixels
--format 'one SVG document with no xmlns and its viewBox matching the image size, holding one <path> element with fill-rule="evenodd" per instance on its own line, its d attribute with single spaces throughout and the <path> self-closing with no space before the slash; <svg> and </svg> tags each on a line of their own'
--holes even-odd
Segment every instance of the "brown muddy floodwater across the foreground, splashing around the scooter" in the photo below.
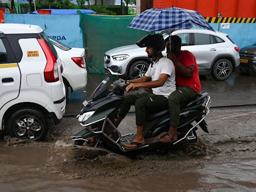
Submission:
<svg viewBox="0 0 256 192">
<path fill-rule="evenodd" d="M 197 143 L 137 159 L 103 149 L 81 155 L 90 151 L 68 145 L 80 127 L 64 118 L 51 132 L 63 142 L 0 137 L 0 191 L 255 191 L 255 116 L 256 107 L 211 109 L 210 133 L 198 130 Z M 120 131 L 133 131 L 131 121 L 133 114 Z"/>
</svg>

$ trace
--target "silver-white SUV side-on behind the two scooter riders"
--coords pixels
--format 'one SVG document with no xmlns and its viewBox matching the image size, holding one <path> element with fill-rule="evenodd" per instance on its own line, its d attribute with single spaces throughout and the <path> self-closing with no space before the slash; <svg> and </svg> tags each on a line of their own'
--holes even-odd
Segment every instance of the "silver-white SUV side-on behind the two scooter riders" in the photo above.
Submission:
<svg viewBox="0 0 256 192">
<path fill-rule="evenodd" d="M 199 74 L 211 74 L 215 79 L 224 80 L 239 65 L 239 48 L 227 34 L 206 29 L 181 29 L 172 32 L 181 38 L 181 49 L 191 51 L 196 58 Z M 166 39 L 168 34 L 163 34 Z M 164 50 L 163 55 L 166 55 Z M 104 55 L 104 68 L 117 75 L 119 66 L 123 78 L 127 77 L 133 68 L 143 76 L 149 66 L 145 48 L 136 44 L 120 46 L 108 50 Z"/>
</svg>

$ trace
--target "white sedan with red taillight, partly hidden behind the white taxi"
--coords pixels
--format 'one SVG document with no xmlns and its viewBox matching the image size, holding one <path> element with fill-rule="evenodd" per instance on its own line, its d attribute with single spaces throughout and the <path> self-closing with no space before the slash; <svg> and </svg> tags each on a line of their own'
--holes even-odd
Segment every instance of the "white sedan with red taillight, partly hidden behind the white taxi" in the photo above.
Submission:
<svg viewBox="0 0 256 192">
<path fill-rule="evenodd" d="M 87 70 L 84 60 L 84 48 L 68 47 L 62 42 L 49 36 L 54 45 L 63 66 L 63 82 L 68 95 L 68 87 L 71 92 L 84 88 L 87 83 Z"/>
</svg>

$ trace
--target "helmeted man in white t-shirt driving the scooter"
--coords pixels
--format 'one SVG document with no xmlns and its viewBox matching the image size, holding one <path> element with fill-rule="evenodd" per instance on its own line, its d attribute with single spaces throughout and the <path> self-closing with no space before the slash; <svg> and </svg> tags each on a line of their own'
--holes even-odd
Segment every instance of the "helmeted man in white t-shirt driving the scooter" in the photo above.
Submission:
<svg viewBox="0 0 256 192">
<path fill-rule="evenodd" d="M 119 124 L 129 111 L 130 106 L 135 105 L 137 125 L 136 136 L 130 143 L 124 145 L 125 149 L 134 149 L 145 145 L 142 131 L 146 112 L 156 112 L 168 108 L 168 96 L 176 89 L 173 62 L 161 53 L 165 46 L 162 35 L 149 34 L 140 39 L 136 44 L 140 47 L 146 47 L 145 51 L 153 61 L 142 78 L 129 80 L 130 84 L 125 90 L 128 92 L 138 87 L 144 87 L 151 88 L 152 93 L 135 93 L 124 97 L 115 123 Z"/>
</svg>

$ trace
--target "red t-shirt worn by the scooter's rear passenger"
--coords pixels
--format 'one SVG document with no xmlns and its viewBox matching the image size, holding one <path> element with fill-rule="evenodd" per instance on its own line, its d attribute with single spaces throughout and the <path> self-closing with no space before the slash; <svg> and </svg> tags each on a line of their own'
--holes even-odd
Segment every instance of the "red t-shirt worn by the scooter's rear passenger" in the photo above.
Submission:
<svg viewBox="0 0 256 192">
<path fill-rule="evenodd" d="M 176 85 L 187 85 L 193 88 L 197 93 L 200 93 L 201 84 L 198 74 L 198 65 L 195 61 L 194 55 L 188 50 L 181 50 L 181 53 L 178 55 L 177 59 L 185 66 L 193 65 L 194 72 L 190 78 L 186 78 L 180 74 L 175 66 Z"/>
</svg>

